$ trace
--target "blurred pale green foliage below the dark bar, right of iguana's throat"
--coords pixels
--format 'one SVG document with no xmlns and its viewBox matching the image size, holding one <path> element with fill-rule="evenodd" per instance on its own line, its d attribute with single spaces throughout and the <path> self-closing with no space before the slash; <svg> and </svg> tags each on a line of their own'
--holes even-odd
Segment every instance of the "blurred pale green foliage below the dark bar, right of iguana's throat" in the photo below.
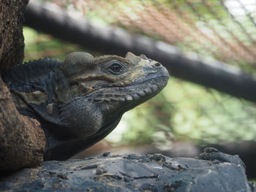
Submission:
<svg viewBox="0 0 256 192">
<path fill-rule="evenodd" d="M 127 112 L 128 128 L 120 141 L 166 148 L 176 139 L 197 144 L 254 140 L 255 115 L 255 104 L 171 77 L 159 95 Z"/>
</svg>

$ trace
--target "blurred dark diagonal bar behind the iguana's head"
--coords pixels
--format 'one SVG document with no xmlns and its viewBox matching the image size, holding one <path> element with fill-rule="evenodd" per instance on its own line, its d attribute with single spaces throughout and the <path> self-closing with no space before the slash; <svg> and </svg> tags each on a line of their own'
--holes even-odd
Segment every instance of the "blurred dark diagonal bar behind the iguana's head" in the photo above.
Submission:
<svg viewBox="0 0 256 192">
<path fill-rule="evenodd" d="M 52 8 L 52 7 L 51 7 Z M 256 79 L 238 68 L 219 61 L 204 61 L 181 53 L 176 47 L 141 35 L 129 34 L 121 28 L 102 28 L 88 20 L 70 18 L 64 11 L 53 11 L 30 3 L 26 26 L 53 34 L 59 39 L 107 54 L 125 55 L 127 51 L 145 54 L 161 62 L 178 77 L 249 101 L 256 101 Z"/>
</svg>

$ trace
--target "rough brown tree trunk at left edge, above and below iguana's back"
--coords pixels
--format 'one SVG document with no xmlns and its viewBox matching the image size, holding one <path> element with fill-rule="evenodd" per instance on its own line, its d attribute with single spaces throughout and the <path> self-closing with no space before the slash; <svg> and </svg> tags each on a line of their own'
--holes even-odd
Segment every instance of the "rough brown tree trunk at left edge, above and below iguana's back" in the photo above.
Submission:
<svg viewBox="0 0 256 192">
<path fill-rule="evenodd" d="M 0 0 L 0 74 L 23 61 L 23 15 L 28 0 Z M 0 170 L 37 166 L 45 135 L 37 120 L 18 113 L 0 77 Z"/>
</svg>

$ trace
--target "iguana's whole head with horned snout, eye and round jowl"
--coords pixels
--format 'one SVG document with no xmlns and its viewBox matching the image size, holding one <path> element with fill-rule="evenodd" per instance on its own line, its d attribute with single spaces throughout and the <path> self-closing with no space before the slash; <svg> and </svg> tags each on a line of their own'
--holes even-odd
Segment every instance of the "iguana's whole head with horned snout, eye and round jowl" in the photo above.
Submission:
<svg viewBox="0 0 256 192">
<path fill-rule="evenodd" d="M 105 127 L 115 127 L 124 112 L 157 95 L 169 78 L 167 69 L 159 62 L 133 53 L 127 53 L 125 58 L 117 55 L 94 58 L 89 53 L 70 53 L 60 69 L 69 92 L 59 95 L 67 100 L 65 107 L 71 109 L 76 105 L 74 115 L 62 119 L 69 125 L 84 127 L 86 124 L 87 129 L 76 126 L 80 131 L 75 132 L 81 137 L 93 135 Z M 83 119 L 90 121 L 77 123 Z"/>
</svg>

